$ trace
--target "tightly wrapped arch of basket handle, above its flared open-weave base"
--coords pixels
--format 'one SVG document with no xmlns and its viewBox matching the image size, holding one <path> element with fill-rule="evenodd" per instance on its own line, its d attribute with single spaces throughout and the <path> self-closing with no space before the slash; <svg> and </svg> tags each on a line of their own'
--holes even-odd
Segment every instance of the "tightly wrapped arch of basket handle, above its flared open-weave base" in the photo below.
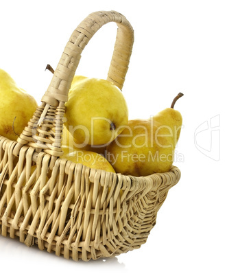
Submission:
<svg viewBox="0 0 251 276">
<path fill-rule="evenodd" d="M 119 12 L 93 12 L 77 26 L 71 35 L 58 67 L 53 73 L 49 88 L 42 97 L 42 102 L 46 102 L 51 106 L 58 106 L 58 101 L 67 102 L 71 82 L 84 47 L 93 35 L 109 22 L 117 23 L 118 30 L 107 80 L 114 82 L 119 89 L 122 89 L 132 54 L 134 41 L 132 26 L 125 19 L 125 16 Z"/>
</svg>

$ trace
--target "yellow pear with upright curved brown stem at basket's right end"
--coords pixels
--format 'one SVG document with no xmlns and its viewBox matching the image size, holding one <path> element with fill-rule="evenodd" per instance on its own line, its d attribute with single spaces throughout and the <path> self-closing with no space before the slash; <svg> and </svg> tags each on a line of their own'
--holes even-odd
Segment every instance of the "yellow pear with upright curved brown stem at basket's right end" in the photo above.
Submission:
<svg viewBox="0 0 251 276">
<path fill-rule="evenodd" d="M 180 137 L 182 115 L 174 104 L 150 119 L 133 119 L 127 128 L 107 146 L 107 159 L 117 173 L 147 176 L 168 172 Z"/>
</svg>

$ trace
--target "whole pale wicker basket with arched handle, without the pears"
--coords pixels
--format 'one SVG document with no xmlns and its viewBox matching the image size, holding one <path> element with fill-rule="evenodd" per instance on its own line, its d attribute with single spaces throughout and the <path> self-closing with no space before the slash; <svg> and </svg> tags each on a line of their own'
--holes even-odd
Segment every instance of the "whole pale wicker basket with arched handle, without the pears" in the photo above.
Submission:
<svg viewBox="0 0 251 276">
<path fill-rule="evenodd" d="M 134 177 L 60 158 L 64 103 L 80 54 L 109 22 L 117 23 L 118 30 L 107 79 L 122 89 L 134 32 L 118 12 L 94 12 L 71 35 L 41 105 L 17 141 L 0 136 L 1 235 L 73 260 L 139 249 L 180 179 L 176 167 Z"/>
</svg>

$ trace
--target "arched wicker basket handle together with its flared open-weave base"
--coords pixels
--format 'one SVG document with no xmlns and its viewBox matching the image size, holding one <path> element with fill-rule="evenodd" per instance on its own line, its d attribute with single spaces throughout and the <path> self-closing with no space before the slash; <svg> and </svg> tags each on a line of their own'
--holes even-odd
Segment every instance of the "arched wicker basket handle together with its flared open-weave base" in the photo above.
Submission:
<svg viewBox="0 0 251 276">
<path fill-rule="evenodd" d="M 28 126 L 18 137 L 14 154 L 19 154 L 22 146 L 32 146 L 36 152 L 46 152 L 53 157 L 62 155 L 62 119 L 64 103 L 68 100 L 71 82 L 80 62 L 81 53 L 93 35 L 106 23 L 117 23 L 117 38 L 112 54 L 107 80 L 122 89 L 128 71 L 134 32 L 132 26 L 119 12 L 93 12 L 74 30 L 53 73 L 53 78 L 45 95 L 29 120 Z"/>
</svg>

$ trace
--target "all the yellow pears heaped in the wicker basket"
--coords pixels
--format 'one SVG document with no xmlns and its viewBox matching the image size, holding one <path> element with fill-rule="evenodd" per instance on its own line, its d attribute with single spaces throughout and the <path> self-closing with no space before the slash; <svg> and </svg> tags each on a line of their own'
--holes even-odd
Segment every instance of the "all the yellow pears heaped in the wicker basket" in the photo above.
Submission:
<svg viewBox="0 0 251 276">
<path fill-rule="evenodd" d="M 75 76 L 66 102 L 60 158 L 131 176 L 168 172 L 180 137 L 179 93 L 160 113 L 128 119 L 121 89 L 108 80 Z M 0 69 L 0 135 L 16 141 L 38 104 Z"/>
</svg>

